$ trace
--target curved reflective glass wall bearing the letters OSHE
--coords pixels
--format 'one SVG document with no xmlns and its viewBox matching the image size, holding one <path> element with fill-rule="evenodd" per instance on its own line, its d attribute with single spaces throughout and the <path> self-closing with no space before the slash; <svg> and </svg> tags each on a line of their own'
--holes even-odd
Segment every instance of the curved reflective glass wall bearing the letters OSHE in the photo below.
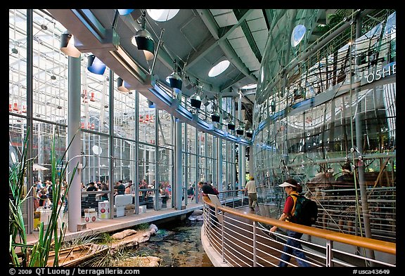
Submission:
<svg viewBox="0 0 405 276">
<path fill-rule="evenodd" d="M 301 44 L 314 32 L 310 18 L 292 20 L 307 28 Z M 281 215 L 278 184 L 295 178 L 319 204 L 316 227 L 392 241 L 396 13 L 336 11 L 330 18 L 340 19 L 318 46 L 288 45 L 275 59 L 278 41 L 270 35 L 267 42 L 252 146 L 260 214 Z M 354 183 L 342 197 L 337 179 L 347 163 Z"/>
</svg>

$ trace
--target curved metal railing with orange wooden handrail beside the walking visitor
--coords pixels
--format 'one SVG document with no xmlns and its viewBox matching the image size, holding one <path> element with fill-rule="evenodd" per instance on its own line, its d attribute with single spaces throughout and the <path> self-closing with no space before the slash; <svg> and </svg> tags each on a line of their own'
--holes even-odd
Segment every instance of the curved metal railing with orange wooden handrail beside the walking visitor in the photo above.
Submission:
<svg viewBox="0 0 405 276">
<path fill-rule="evenodd" d="M 313 267 L 396 267 L 396 244 L 318 229 L 238 210 L 248 199 L 240 191 L 219 194 L 221 206 L 204 197 L 203 235 L 221 256 L 224 266 L 278 266 L 288 236 L 285 230 L 303 233 L 300 242 L 307 263 Z M 269 228 L 280 230 L 270 234 Z M 292 255 L 290 255 L 292 256 Z M 295 256 L 288 265 L 297 266 Z"/>
</svg>

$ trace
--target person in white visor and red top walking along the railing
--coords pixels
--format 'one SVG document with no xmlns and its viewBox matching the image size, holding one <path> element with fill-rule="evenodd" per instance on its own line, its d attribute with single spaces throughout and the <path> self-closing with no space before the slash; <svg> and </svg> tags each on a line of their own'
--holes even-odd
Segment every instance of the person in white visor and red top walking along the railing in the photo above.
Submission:
<svg viewBox="0 0 405 276">
<path fill-rule="evenodd" d="M 298 191 L 300 191 L 301 187 L 300 184 L 297 183 L 297 180 L 293 178 L 285 180 L 283 184 L 280 184 L 278 186 L 283 187 L 284 192 L 288 195 L 285 198 L 283 213 L 281 214 L 280 218 L 278 218 L 278 220 L 289 221 L 289 218 L 293 216 L 293 213 L 295 211 L 295 204 L 297 202 L 297 197 L 290 197 L 290 195 L 295 194 L 298 196 Z M 277 226 L 274 225 L 272 228 L 270 228 L 270 233 L 275 232 L 276 230 Z M 310 265 L 307 262 L 307 257 L 305 256 L 304 251 L 302 251 L 302 246 L 300 242 L 302 233 L 287 230 L 287 235 L 288 239 L 286 244 L 284 245 L 283 254 L 281 254 L 281 261 L 278 264 L 278 266 L 280 267 L 288 266 L 288 263 L 290 262 L 291 259 L 291 254 L 293 254 L 296 257 L 298 265 L 302 267 L 309 267 Z"/>
</svg>

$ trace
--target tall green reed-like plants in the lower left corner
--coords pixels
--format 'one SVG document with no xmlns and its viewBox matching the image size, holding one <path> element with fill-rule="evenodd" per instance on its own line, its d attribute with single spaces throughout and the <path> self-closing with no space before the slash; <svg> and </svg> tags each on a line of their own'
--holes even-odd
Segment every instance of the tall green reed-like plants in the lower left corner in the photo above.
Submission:
<svg viewBox="0 0 405 276">
<path fill-rule="evenodd" d="M 27 159 L 27 146 L 28 146 L 28 133 L 23 142 L 23 154 L 20 162 L 13 165 L 8 173 L 8 185 L 11 192 L 9 199 L 9 265 L 11 266 L 30 266 L 30 267 L 44 267 L 47 265 L 49 252 L 51 249 L 55 251 L 55 258 L 53 266 L 58 266 L 58 252 L 63 244 L 65 237 L 65 223 L 61 223 L 61 227 L 58 228 L 58 219 L 62 204 L 58 202 L 64 202 L 65 197 L 68 195 L 68 190 L 72 183 L 73 177 L 77 171 L 78 162 L 75 168 L 72 170 L 70 179 L 66 183 L 65 192 L 61 195 L 63 189 L 63 183 L 65 176 L 67 175 L 67 169 L 69 162 L 61 162 L 65 159 L 65 155 L 68 152 L 70 144 L 63 152 L 62 157 L 56 156 L 56 138 L 58 138 L 57 129 L 53 133 L 53 143 L 51 147 L 51 180 L 53 189 L 53 208 L 51 216 L 49 217 L 49 225 L 46 230 L 44 229 L 44 223 L 39 225 L 39 236 L 37 242 L 33 246 L 27 245 L 27 235 L 23 220 L 22 206 L 25 200 L 32 197 L 34 187 L 30 188 L 27 195 L 24 195 L 25 176 L 27 168 L 32 166 L 32 159 Z M 61 164 L 57 169 L 56 165 Z M 28 196 L 30 195 L 30 196 Z M 20 249 L 20 253 L 17 252 Z"/>
</svg>

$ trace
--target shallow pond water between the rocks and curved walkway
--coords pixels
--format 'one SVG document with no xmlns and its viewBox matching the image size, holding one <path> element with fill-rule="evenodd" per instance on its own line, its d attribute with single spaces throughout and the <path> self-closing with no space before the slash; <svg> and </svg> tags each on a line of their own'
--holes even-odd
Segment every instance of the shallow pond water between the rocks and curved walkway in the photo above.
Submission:
<svg viewBox="0 0 405 276">
<path fill-rule="evenodd" d="M 213 267 L 201 244 L 203 221 L 173 221 L 155 224 L 158 233 L 139 244 L 137 256 L 156 256 L 162 267 Z"/>
</svg>

